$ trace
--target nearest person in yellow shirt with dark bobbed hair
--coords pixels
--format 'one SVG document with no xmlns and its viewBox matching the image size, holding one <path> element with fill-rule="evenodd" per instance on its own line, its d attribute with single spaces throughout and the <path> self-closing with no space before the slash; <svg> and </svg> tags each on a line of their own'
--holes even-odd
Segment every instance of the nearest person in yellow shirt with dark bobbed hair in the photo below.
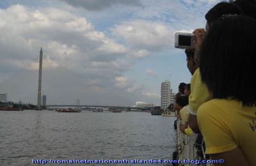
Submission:
<svg viewBox="0 0 256 166">
<path fill-rule="evenodd" d="M 256 165 L 256 20 L 224 15 L 212 23 L 200 50 L 200 73 L 212 100 L 197 121 L 212 159 Z"/>
</svg>

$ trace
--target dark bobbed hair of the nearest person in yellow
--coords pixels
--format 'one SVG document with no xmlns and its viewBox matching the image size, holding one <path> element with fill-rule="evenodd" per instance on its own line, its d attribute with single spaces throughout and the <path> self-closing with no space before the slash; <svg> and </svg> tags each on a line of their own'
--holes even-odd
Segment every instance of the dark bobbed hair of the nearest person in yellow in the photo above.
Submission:
<svg viewBox="0 0 256 166">
<path fill-rule="evenodd" d="M 213 98 L 256 103 L 256 20 L 221 17 L 212 24 L 200 52 L 200 73 Z"/>
</svg>

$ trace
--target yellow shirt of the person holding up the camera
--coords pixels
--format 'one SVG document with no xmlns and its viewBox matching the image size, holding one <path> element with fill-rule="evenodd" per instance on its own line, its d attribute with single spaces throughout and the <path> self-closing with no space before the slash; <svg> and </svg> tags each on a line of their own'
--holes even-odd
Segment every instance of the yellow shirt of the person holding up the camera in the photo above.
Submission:
<svg viewBox="0 0 256 166">
<path fill-rule="evenodd" d="M 200 70 L 196 69 L 191 77 L 191 93 L 189 95 L 189 113 L 196 116 L 196 112 L 202 103 L 209 101 L 210 94 L 206 85 L 201 80 Z"/>
</svg>

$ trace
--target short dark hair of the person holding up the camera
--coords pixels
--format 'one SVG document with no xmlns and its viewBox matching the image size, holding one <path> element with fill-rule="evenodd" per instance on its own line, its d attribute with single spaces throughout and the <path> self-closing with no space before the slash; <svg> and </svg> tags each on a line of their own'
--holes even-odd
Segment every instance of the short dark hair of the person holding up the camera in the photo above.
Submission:
<svg viewBox="0 0 256 166">
<path fill-rule="evenodd" d="M 241 14 L 241 9 L 234 3 L 227 3 L 227 2 L 221 2 L 216 4 L 209 10 L 206 15 L 205 19 L 207 20 L 207 23 L 209 26 L 211 26 L 211 23 L 214 22 L 214 20 L 219 19 L 222 15 L 227 14 Z"/>
</svg>

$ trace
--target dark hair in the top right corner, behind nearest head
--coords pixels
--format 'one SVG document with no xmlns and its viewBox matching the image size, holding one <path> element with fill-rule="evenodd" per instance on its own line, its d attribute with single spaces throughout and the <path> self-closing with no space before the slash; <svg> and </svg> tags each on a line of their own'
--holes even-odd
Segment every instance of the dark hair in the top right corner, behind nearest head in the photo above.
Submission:
<svg viewBox="0 0 256 166">
<path fill-rule="evenodd" d="M 239 6 L 243 14 L 256 19 L 256 2 L 253 0 L 236 0 L 234 4 Z"/>
</svg>

